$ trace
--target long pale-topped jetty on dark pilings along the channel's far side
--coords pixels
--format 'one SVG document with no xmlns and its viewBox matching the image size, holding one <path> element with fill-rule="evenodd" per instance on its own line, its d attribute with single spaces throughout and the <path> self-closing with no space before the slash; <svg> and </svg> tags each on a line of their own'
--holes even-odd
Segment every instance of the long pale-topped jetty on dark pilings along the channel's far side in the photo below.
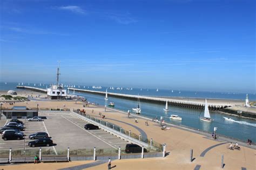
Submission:
<svg viewBox="0 0 256 170">
<path fill-rule="evenodd" d="M 76 88 L 68 88 L 69 90 L 78 91 L 81 93 L 90 93 L 90 94 L 98 94 L 98 95 L 105 95 L 105 91 L 95 91 L 95 90 L 85 90 L 85 89 L 76 89 Z M 118 97 L 118 98 L 126 98 L 129 100 L 138 100 L 145 101 L 145 102 L 151 102 L 151 103 L 161 103 L 164 104 L 166 101 L 171 105 L 176 105 L 179 107 L 185 107 L 185 108 L 194 108 L 194 109 L 203 109 L 205 106 L 204 102 L 198 102 L 198 101 L 187 101 L 187 100 L 176 100 L 171 98 L 163 98 L 163 97 L 150 97 L 150 96 L 141 96 L 141 95 L 128 95 L 128 94 L 119 94 L 119 93 L 107 93 L 107 95 L 112 97 Z M 232 107 L 234 104 L 230 103 L 208 103 L 208 108 L 210 110 L 221 110 L 224 108 Z"/>
</svg>

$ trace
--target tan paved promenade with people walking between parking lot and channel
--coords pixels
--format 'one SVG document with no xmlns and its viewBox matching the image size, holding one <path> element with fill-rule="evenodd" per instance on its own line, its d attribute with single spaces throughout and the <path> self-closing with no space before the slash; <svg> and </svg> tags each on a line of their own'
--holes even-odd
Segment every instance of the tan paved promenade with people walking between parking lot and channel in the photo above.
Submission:
<svg viewBox="0 0 256 170">
<path fill-rule="evenodd" d="M 39 102 L 41 108 L 43 107 L 62 107 L 62 102 Z M 19 103 L 22 105 L 22 103 Z M 29 102 L 28 105 L 35 105 L 35 102 Z M 74 102 L 66 102 L 66 108 L 83 108 L 83 104 L 75 104 Z M 113 169 L 221 169 L 221 155 L 224 155 L 224 169 L 256 169 L 255 155 L 256 150 L 241 146 L 241 150 L 228 150 L 226 148 L 226 141 L 215 141 L 202 134 L 193 133 L 179 128 L 171 127 L 170 130 L 161 130 L 158 123 L 149 121 L 149 126 L 145 125 L 145 120 L 137 118 L 138 123 L 134 122 L 134 117 L 128 118 L 126 114 L 104 108 L 90 105 L 86 109 L 86 114 L 92 116 L 99 116 L 99 112 L 106 115 L 105 121 L 122 126 L 126 130 L 131 130 L 134 133 L 146 134 L 147 138 L 152 138 L 158 143 L 167 145 L 168 155 L 165 158 L 147 158 L 147 159 L 127 159 L 127 160 L 113 160 Z M 91 113 L 93 111 L 93 114 Z M 190 162 L 190 150 L 193 149 L 193 162 Z M 81 168 L 89 167 L 88 169 L 106 169 L 107 163 L 90 164 L 84 166 L 92 161 L 73 161 L 57 164 L 41 163 L 38 165 L 8 165 L 0 166 L 4 169 L 60 169 L 66 167 L 77 166 Z M 48 166 L 46 166 L 48 165 Z M 82 166 L 83 165 L 83 166 Z M 72 168 L 71 168 L 72 169 Z"/>
</svg>

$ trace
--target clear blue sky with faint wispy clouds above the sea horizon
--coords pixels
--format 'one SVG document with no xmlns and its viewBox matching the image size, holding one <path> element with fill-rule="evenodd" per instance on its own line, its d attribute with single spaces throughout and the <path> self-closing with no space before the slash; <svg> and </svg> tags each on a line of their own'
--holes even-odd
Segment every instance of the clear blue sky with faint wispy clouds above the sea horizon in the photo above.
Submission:
<svg viewBox="0 0 256 170">
<path fill-rule="evenodd" d="M 255 1 L 0 3 L 0 81 L 255 93 Z"/>
</svg>

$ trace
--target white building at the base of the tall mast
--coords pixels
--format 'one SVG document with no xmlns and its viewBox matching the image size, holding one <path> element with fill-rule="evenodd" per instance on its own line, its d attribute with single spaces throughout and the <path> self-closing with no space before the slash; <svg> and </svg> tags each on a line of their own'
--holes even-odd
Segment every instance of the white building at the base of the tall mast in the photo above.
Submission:
<svg viewBox="0 0 256 170">
<path fill-rule="evenodd" d="M 62 100 L 67 97 L 67 93 L 61 86 L 52 85 L 51 88 L 47 89 L 47 96 L 53 100 Z"/>
</svg>

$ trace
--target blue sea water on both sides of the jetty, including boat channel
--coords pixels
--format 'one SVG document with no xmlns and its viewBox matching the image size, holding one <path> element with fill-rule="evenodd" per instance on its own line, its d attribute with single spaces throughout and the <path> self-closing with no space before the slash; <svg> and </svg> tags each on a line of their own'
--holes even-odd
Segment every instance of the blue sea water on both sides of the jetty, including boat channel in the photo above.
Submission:
<svg viewBox="0 0 256 170">
<path fill-rule="evenodd" d="M 50 87 L 50 84 L 46 83 L 19 83 L 20 86 L 31 86 L 37 88 Z M 41 86 L 40 86 L 41 85 Z M 16 89 L 18 83 L 10 82 L 0 82 L 0 90 L 22 90 Z M 132 88 L 132 87 L 92 87 L 85 85 L 75 85 L 68 84 L 73 88 L 97 90 L 97 91 L 107 91 L 110 93 L 122 93 L 131 95 L 145 95 L 145 96 L 167 96 L 167 97 L 191 97 L 191 98 L 222 98 L 230 100 L 245 100 L 245 93 L 221 93 L 214 91 L 185 91 L 176 89 L 147 89 L 147 88 Z M 70 91 L 73 94 L 73 91 Z M 114 109 L 127 112 L 132 111 L 132 108 L 137 107 L 137 101 L 127 100 L 123 98 L 110 97 L 109 100 L 104 100 L 104 96 L 97 94 L 87 94 L 87 93 L 77 93 L 75 95 L 84 96 L 88 101 L 93 103 L 98 103 L 99 105 L 107 105 L 109 102 L 114 102 Z M 248 94 L 249 100 L 256 100 L 255 94 Z M 212 133 L 214 127 L 217 129 L 217 136 L 221 134 L 222 136 L 227 136 L 230 138 L 238 139 L 241 141 L 247 141 L 247 139 L 252 139 L 253 142 L 256 141 L 256 121 L 252 119 L 238 118 L 234 116 L 227 116 L 218 114 L 214 111 L 210 111 L 211 118 L 213 121 L 211 123 L 200 121 L 199 116 L 203 114 L 203 110 L 190 109 L 174 107 L 169 105 L 169 112 L 164 111 L 165 104 L 154 104 L 147 102 L 140 102 L 140 107 L 142 109 L 141 115 L 158 118 L 163 117 L 165 122 L 169 122 L 176 125 L 187 126 L 188 128 L 207 131 Z M 182 117 L 182 121 L 174 121 L 170 119 L 170 115 L 178 115 Z M 231 118 L 227 121 L 226 118 Z"/>
</svg>

